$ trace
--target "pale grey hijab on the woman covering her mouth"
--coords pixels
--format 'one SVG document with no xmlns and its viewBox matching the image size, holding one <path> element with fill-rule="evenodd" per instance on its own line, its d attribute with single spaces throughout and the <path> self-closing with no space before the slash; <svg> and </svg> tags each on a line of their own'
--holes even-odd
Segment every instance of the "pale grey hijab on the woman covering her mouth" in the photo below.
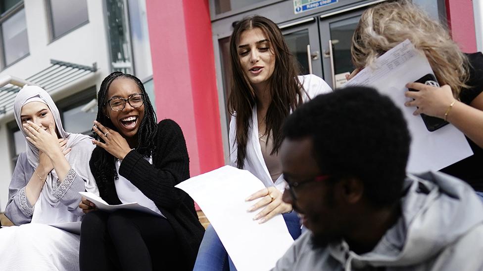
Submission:
<svg viewBox="0 0 483 271">
<path fill-rule="evenodd" d="M 89 168 L 89 158 L 91 157 L 92 150 L 95 147 L 91 144 L 92 138 L 83 134 L 67 133 L 62 126 L 62 122 L 60 121 L 60 114 L 57 106 L 53 102 L 52 98 L 50 98 L 50 95 L 48 95 L 47 91 L 39 86 L 25 86 L 17 93 L 17 96 L 15 97 L 13 113 L 15 116 L 15 121 L 17 121 L 17 125 L 20 128 L 20 131 L 22 132 L 24 137 L 27 137 L 27 134 L 23 130 L 20 113 L 22 107 L 25 104 L 33 101 L 43 102 L 48 106 L 50 112 L 53 115 L 55 126 L 57 127 L 59 136 L 61 138 L 67 138 L 66 148 L 72 148 L 72 151 L 65 156 L 67 158 L 67 161 L 69 162 L 70 166 L 77 172 L 77 175 L 84 180 L 86 190 L 88 192 L 98 194 L 96 182 Z M 29 161 L 29 164 L 33 168 L 37 168 L 37 166 L 39 165 L 39 149 L 35 147 L 34 144 L 28 141 L 26 142 L 27 159 Z M 55 173 L 55 170 L 52 170 L 47 175 L 47 180 L 41 193 L 41 195 L 43 195 L 47 199 L 48 203 L 52 207 L 55 206 L 59 201 L 55 196 L 53 196 L 52 193 L 53 189 L 57 186 L 57 178 L 58 177 Z"/>
</svg>

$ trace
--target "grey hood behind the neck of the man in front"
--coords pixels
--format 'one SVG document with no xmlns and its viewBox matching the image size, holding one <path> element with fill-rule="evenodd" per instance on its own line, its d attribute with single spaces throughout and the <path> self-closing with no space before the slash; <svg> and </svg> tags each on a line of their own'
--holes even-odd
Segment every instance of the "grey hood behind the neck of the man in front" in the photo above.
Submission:
<svg viewBox="0 0 483 271">
<path fill-rule="evenodd" d="M 368 253 L 350 251 L 346 242 L 329 246 L 345 268 L 410 266 L 435 256 L 442 248 L 483 223 L 483 204 L 473 189 L 440 172 L 409 175 L 401 198 L 402 216 Z"/>
</svg>

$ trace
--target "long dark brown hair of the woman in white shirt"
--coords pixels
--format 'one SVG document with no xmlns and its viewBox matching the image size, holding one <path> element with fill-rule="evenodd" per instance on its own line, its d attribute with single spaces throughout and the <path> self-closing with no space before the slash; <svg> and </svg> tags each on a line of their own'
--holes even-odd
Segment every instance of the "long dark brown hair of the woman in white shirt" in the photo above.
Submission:
<svg viewBox="0 0 483 271">
<path fill-rule="evenodd" d="M 253 87 L 241 68 L 237 45 L 243 31 L 259 28 L 269 41 L 270 50 L 275 55 L 275 69 L 269 80 L 270 105 L 265 116 L 266 134 L 273 136 L 271 155 L 278 152 L 282 145 L 282 124 L 290 110 L 302 103 L 302 84 L 297 76 L 298 63 L 290 53 L 282 32 L 271 20 L 262 16 L 243 18 L 234 28 L 230 38 L 230 62 L 232 68 L 232 85 L 228 98 L 228 112 L 236 116 L 236 144 L 238 144 L 237 166 L 243 168 L 246 157 L 248 129 L 252 117 L 252 109 L 256 104 Z M 234 143 L 235 144 L 235 143 Z"/>
</svg>

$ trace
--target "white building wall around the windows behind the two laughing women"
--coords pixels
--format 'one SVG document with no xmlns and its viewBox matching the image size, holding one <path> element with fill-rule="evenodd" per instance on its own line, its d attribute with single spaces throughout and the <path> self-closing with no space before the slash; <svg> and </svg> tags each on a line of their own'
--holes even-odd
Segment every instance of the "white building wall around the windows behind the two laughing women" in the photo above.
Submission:
<svg viewBox="0 0 483 271">
<path fill-rule="evenodd" d="M 50 42 L 46 1 L 24 0 L 30 55 L 1 71 L 0 77 L 30 77 L 50 66 L 50 59 L 86 66 L 96 62 L 98 71 L 95 74 L 55 90 L 52 98 L 58 101 L 93 85 L 98 89 L 110 71 L 103 2 L 87 0 L 89 23 Z M 0 212 L 5 209 L 13 171 L 11 141 L 6 126 L 12 120 L 11 113 L 0 115 Z"/>
</svg>

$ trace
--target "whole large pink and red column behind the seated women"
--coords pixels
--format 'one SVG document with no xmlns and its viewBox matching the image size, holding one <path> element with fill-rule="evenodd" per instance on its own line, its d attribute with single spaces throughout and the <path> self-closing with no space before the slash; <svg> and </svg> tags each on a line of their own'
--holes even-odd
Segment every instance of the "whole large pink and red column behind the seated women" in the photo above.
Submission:
<svg viewBox="0 0 483 271">
<path fill-rule="evenodd" d="M 208 0 L 146 0 L 158 119 L 183 129 L 191 176 L 224 165 Z"/>
</svg>

